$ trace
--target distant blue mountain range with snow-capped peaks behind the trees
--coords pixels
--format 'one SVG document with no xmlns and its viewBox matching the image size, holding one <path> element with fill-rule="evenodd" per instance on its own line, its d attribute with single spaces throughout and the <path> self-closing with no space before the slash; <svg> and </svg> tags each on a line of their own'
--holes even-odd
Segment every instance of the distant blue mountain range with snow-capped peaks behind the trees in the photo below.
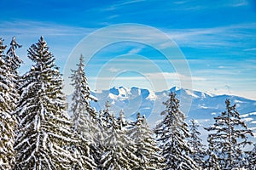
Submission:
<svg viewBox="0 0 256 170">
<path fill-rule="evenodd" d="M 160 112 L 165 110 L 162 102 L 168 99 L 170 92 L 177 94 L 181 111 L 188 116 L 187 120 L 194 118 L 202 127 L 211 125 L 214 122 L 213 117 L 225 111 L 225 99 L 230 99 L 231 105 L 236 104 L 236 110 L 247 122 L 247 126 L 256 132 L 256 101 L 233 95 L 214 95 L 177 87 L 162 92 L 143 88 L 114 87 L 91 92 L 98 99 L 98 102 L 91 102 L 91 105 L 99 111 L 109 100 L 113 114 L 118 115 L 123 110 L 127 119 L 134 119 L 137 112 L 140 112 L 148 118 L 148 124 L 154 127 L 163 118 L 160 115 Z M 71 101 L 71 96 L 68 96 L 68 101 Z"/>
</svg>

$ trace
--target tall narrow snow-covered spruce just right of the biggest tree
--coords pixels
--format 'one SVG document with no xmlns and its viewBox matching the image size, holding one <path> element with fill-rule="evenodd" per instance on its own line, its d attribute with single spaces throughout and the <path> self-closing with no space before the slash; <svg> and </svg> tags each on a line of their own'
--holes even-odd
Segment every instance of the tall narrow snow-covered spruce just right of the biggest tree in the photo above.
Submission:
<svg viewBox="0 0 256 170">
<path fill-rule="evenodd" d="M 98 130 L 97 126 L 96 111 L 90 107 L 90 100 L 96 100 L 96 98 L 93 98 L 90 95 L 90 88 L 84 73 L 84 57 L 82 54 L 79 58 L 78 69 L 73 71 L 71 78 L 74 87 L 71 105 L 71 111 L 73 113 L 73 129 L 78 133 L 79 137 L 79 144 L 74 145 L 73 149 L 77 150 L 81 155 L 81 168 L 95 169 L 96 163 L 94 157 L 96 156 L 91 156 L 90 154 L 96 155 L 95 152 L 97 149 L 95 137 L 97 133 L 100 133 L 100 130 Z"/>
</svg>

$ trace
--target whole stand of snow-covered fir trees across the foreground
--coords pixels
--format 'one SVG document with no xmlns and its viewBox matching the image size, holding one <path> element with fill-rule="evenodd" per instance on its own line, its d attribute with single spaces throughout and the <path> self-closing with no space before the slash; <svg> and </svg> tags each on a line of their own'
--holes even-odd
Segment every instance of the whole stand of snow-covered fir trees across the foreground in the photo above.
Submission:
<svg viewBox="0 0 256 170">
<path fill-rule="evenodd" d="M 44 37 L 27 50 L 33 64 L 24 75 L 18 73 L 18 48 L 15 37 L 9 46 L 0 38 L 1 170 L 256 169 L 256 145 L 244 150 L 253 133 L 230 99 L 214 124 L 204 127 L 205 145 L 200 125 L 186 120 L 175 93 L 163 103 L 162 121 L 154 129 L 143 113 L 127 121 L 108 101 L 96 111 L 81 55 L 70 75 L 74 92 L 67 107 L 61 73 Z"/>
</svg>

